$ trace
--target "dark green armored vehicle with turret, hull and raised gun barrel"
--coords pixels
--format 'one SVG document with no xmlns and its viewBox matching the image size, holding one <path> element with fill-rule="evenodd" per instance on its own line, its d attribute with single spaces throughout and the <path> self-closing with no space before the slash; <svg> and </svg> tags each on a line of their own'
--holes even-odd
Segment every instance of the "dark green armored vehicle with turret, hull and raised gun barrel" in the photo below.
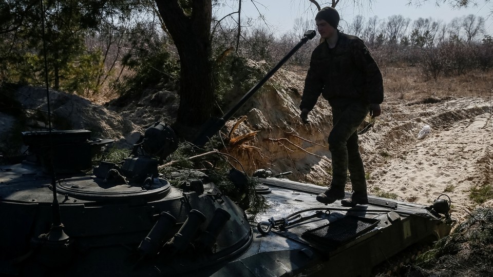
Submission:
<svg viewBox="0 0 493 277">
<path fill-rule="evenodd" d="M 283 61 L 313 36 L 307 32 Z M 270 204 L 251 222 L 206 173 L 181 189 L 163 178 L 158 165 L 178 143 L 165 123 L 150 126 L 121 163 L 94 167 L 93 155 L 112 140 L 87 130 L 22 137 L 27 154 L 0 166 L 2 276 L 369 276 L 453 224 L 442 196 L 431 206 L 369 197 L 368 205 L 346 208 L 316 202 L 326 188 L 280 178 L 287 173 L 232 169 L 235 184 L 253 179 Z"/>
</svg>

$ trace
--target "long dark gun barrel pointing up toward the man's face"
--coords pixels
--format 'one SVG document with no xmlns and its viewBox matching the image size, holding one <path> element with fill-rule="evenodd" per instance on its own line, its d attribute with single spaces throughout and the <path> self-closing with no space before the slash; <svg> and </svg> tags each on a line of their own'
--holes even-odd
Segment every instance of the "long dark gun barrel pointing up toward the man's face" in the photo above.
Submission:
<svg viewBox="0 0 493 277">
<path fill-rule="evenodd" d="M 304 45 L 305 43 L 307 43 L 310 39 L 312 39 L 313 37 L 315 37 L 315 31 L 314 30 L 309 30 L 309 31 L 306 31 L 305 34 L 303 35 L 303 37 L 301 38 L 301 41 L 296 44 L 295 47 L 293 47 L 293 49 L 291 49 L 291 51 L 288 52 L 288 54 L 286 54 L 286 56 L 284 56 L 282 58 L 282 60 L 280 60 L 268 73 L 266 76 L 264 76 L 262 78 L 262 80 L 260 80 L 253 88 L 251 88 L 247 94 L 245 94 L 241 100 L 233 107 L 231 108 L 228 112 L 226 112 L 221 118 L 217 118 L 215 121 L 213 122 L 209 122 L 209 123 L 206 123 L 205 124 L 205 127 L 202 128 L 202 131 L 200 132 L 200 134 L 197 136 L 197 138 L 195 139 L 195 142 L 194 144 L 197 145 L 197 146 L 203 146 L 215 133 L 217 133 L 219 130 L 221 130 L 222 127 L 224 127 L 224 125 L 226 124 L 226 121 L 228 121 L 237 111 L 238 109 L 243 106 L 243 104 L 245 104 L 245 102 L 247 102 L 247 100 L 250 99 L 250 97 L 252 97 L 252 95 L 264 84 L 267 82 L 267 80 L 269 80 L 270 77 L 272 77 L 272 75 L 274 75 L 274 73 L 283 65 L 285 64 L 288 59 L 296 52 L 298 51 L 298 49 Z"/>
</svg>

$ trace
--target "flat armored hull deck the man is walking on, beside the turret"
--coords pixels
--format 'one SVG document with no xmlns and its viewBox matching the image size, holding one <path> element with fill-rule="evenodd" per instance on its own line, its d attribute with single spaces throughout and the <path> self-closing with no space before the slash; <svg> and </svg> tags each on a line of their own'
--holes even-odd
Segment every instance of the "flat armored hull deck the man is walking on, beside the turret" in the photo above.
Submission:
<svg viewBox="0 0 493 277">
<path fill-rule="evenodd" d="M 258 181 L 271 207 L 260 215 L 256 243 L 226 265 L 252 272 L 244 276 L 371 276 L 395 254 L 443 238 L 454 224 L 429 206 L 375 196 L 368 205 L 324 205 L 315 196 L 326 187 Z"/>
</svg>

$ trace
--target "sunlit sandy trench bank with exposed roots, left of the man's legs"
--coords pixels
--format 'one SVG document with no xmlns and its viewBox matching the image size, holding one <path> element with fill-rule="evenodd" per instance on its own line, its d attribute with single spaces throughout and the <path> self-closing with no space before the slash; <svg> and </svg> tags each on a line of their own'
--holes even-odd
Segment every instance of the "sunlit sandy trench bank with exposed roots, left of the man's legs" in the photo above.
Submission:
<svg viewBox="0 0 493 277">
<path fill-rule="evenodd" d="M 332 129 L 332 116 L 327 101 L 320 97 L 310 113 L 310 124 L 299 117 L 303 80 L 298 75 L 281 71 L 252 98 L 244 111 L 248 117 L 233 134 L 258 131 L 255 140 L 230 148 L 248 174 L 270 168 L 274 174 L 292 171 L 289 179 L 327 185 L 331 179 L 330 152 L 327 136 Z M 231 130 L 235 120 L 226 124 Z"/>
</svg>

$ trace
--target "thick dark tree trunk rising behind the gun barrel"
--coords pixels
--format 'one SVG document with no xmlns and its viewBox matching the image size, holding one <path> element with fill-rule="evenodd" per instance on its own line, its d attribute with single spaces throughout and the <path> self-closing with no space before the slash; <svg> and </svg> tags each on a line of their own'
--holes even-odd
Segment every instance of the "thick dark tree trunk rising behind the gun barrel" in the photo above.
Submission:
<svg viewBox="0 0 493 277">
<path fill-rule="evenodd" d="M 211 63 L 211 0 L 156 0 L 180 56 L 180 107 L 177 123 L 203 124 L 211 117 L 214 87 Z"/>
</svg>

